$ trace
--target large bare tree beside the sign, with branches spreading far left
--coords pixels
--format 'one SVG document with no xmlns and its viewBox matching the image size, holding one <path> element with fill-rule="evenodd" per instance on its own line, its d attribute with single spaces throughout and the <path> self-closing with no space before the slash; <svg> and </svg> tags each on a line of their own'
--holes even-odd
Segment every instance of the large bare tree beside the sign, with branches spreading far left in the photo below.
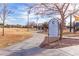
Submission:
<svg viewBox="0 0 79 59">
<path fill-rule="evenodd" d="M 74 11 L 70 11 L 68 12 L 68 9 L 70 7 L 70 5 L 72 5 L 71 3 L 42 3 L 42 4 L 38 4 L 40 7 L 38 7 L 38 13 L 41 15 L 52 15 L 52 14 L 59 14 L 60 15 L 60 40 L 62 39 L 63 36 L 63 29 L 64 29 L 64 25 L 65 25 L 65 19 L 67 19 L 70 15 L 74 15 L 75 13 L 77 13 L 79 11 L 79 9 L 77 8 Z M 74 4 L 73 4 L 74 5 Z M 39 10 L 42 7 L 42 9 L 44 10 Z M 48 11 L 51 11 L 50 13 Z M 37 12 L 36 12 L 37 13 Z"/>
</svg>

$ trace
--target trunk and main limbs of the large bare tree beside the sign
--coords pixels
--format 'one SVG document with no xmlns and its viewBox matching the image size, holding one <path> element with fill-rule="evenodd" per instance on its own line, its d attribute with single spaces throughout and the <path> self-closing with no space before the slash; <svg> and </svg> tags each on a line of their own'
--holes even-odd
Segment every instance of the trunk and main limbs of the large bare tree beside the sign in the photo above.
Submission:
<svg viewBox="0 0 79 59">
<path fill-rule="evenodd" d="M 68 12 L 68 8 L 70 3 L 62 3 L 62 4 L 58 4 L 58 3 L 54 3 L 51 4 L 51 6 L 53 6 L 54 8 L 49 8 L 46 4 L 43 4 L 44 6 L 46 6 L 48 9 L 52 9 L 52 10 L 56 10 L 57 12 L 59 12 L 60 14 L 60 40 L 62 39 L 62 34 L 63 34 L 63 29 L 64 29 L 64 21 L 67 17 L 69 17 L 70 15 L 73 15 L 75 13 L 77 13 L 79 11 L 79 9 L 71 11 L 70 13 L 67 14 Z"/>
</svg>

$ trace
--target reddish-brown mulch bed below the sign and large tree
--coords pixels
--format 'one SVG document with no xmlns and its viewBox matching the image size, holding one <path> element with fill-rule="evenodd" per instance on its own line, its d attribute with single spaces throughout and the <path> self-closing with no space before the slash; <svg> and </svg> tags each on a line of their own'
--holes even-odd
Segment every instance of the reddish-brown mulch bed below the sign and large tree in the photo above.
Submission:
<svg viewBox="0 0 79 59">
<path fill-rule="evenodd" d="M 68 39 L 68 38 L 63 38 L 60 41 L 60 45 L 58 44 L 58 42 L 52 43 L 50 45 L 46 45 L 43 48 L 53 48 L 53 49 L 57 49 L 57 48 L 64 48 L 64 47 L 69 47 L 69 46 L 75 46 L 75 45 L 79 45 L 79 39 Z"/>
</svg>

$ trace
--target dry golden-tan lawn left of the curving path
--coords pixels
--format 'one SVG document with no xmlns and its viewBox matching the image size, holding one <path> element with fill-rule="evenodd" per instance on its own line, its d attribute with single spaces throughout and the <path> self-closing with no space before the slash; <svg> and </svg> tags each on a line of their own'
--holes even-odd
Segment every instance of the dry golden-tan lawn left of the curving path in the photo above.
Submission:
<svg viewBox="0 0 79 59">
<path fill-rule="evenodd" d="M 13 45 L 32 37 L 31 32 L 27 32 L 26 28 L 5 28 L 5 35 L 2 36 L 0 28 L 0 48 Z"/>
</svg>

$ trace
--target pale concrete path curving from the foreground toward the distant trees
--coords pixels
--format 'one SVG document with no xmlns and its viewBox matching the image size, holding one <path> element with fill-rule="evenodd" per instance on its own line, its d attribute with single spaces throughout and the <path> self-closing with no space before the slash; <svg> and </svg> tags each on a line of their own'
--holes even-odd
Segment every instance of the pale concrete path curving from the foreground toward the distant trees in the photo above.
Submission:
<svg viewBox="0 0 79 59">
<path fill-rule="evenodd" d="M 40 43 L 44 40 L 44 34 L 33 33 L 33 37 L 5 49 L 0 49 L 3 56 L 75 56 L 79 55 L 79 45 L 58 48 L 40 48 Z"/>
</svg>

